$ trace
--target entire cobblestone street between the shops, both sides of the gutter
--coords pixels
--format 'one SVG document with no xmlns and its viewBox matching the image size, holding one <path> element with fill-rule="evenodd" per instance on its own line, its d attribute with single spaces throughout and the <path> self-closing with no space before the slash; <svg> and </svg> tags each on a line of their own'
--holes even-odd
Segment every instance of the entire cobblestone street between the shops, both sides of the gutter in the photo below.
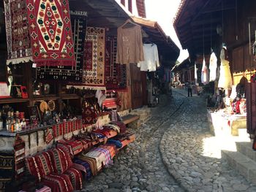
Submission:
<svg viewBox="0 0 256 192">
<path fill-rule="evenodd" d="M 82 191 L 256 191 L 204 147 L 213 137 L 206 100 L 184 95 L 184 90 L 175 90 L 172 98 L 162 96 L 151 119 L 129 130 L 135 132 L 135 142 Z"/>
</svg>

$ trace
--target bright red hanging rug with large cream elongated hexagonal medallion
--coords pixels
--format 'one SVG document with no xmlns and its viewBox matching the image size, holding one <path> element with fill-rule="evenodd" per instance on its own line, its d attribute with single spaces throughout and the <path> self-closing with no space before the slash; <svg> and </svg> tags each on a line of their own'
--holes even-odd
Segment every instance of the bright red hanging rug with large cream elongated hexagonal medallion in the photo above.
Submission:
<svg viewBox="0 0 256 192">
<path fill-rule="evenodd" d="M 32 56 L 37 66 L 73 66 L 68 0 L 26 0 Z"/>
</svg>

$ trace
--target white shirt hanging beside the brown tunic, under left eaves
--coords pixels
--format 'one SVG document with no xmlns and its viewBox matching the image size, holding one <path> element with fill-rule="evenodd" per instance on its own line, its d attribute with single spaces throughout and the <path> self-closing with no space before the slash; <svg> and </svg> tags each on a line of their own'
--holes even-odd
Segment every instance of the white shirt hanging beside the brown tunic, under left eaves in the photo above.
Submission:
<svg viewBox="0 0 256 192">
<path fill-rule="evenodd" d="M 144 61 L 138 63 L 140 71 L 143 72 L 155 72 L 157 67 L 160 66 L 158 58 L 157 45 L 155 44 L 143 44 Z"/>
</svg>

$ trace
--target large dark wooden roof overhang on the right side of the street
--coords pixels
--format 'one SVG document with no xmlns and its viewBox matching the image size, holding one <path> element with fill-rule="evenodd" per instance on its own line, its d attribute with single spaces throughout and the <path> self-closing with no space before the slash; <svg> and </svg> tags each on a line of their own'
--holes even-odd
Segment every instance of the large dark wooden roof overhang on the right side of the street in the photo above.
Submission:
<svg viewBox="0 0 256 192">
<path fill-rule="evenodd" d="M 190 55 L 210 53 L 222 39 L 217 26 L 223 25 L 223 12 L 235 8 L 234 0 L 181 0 L 173 26 L 182 48 Z"/>
</svg>

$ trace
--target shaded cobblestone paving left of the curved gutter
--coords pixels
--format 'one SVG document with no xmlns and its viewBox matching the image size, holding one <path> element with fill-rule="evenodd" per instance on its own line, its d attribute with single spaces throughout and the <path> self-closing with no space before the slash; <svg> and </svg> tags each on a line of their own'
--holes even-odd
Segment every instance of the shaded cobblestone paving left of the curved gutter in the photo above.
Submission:
<svg viewBox="0 0 256 192">
<path fill-rule="evenodd" d="M 164 99 L 164 100 L 163 100 Z M 162 135 L 183 99 L 160 99 L 152 108 L 152 118 L 135 132 L 136 140 L 114 158 L 113 166 L 105 168 L 85 183 L 82 191 L 184 191 L 167 172 L 159 152 Z"/>
</svg>

